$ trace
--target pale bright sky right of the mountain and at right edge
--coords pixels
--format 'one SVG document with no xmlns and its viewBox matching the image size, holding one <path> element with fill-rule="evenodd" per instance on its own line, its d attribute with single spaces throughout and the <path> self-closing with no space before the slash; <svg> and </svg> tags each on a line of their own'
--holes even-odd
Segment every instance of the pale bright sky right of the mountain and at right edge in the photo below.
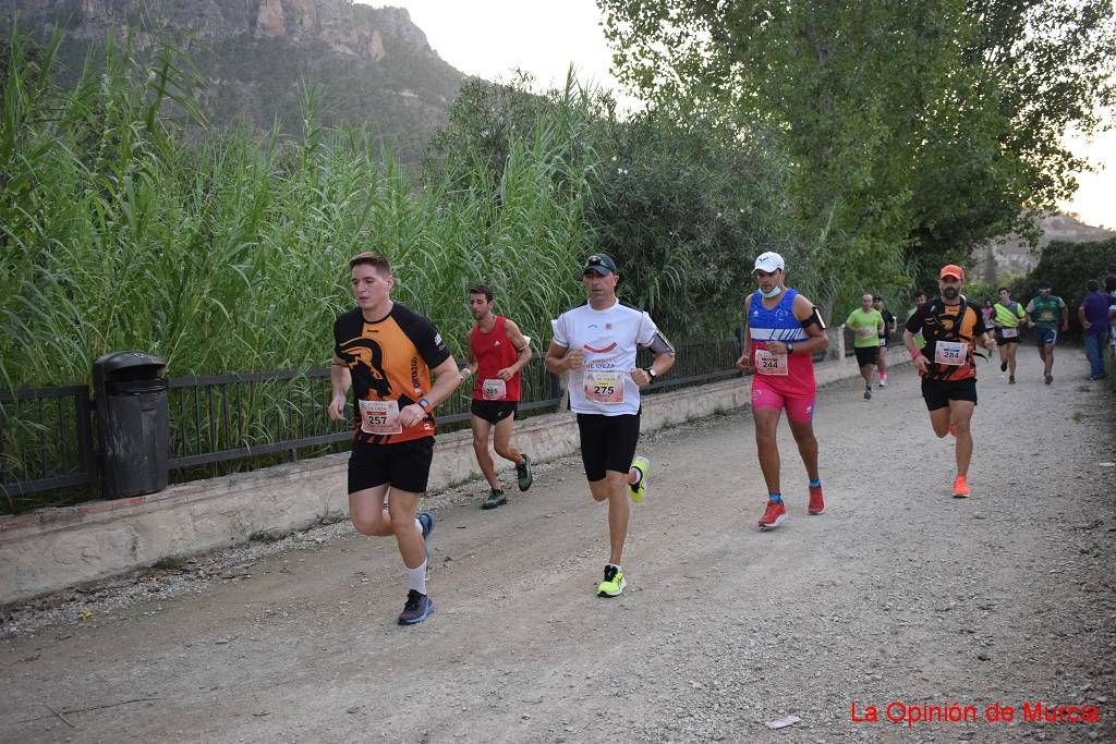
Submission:
<svg viewBox="0 0 1116 744">
<path fill-rule="evenodd" d="M 560 86 L 573 62 L 581 83 L 617 89 L 612 51 L 594 0 L 396 0 L 368 4 L 406 8 L 445 61 L 468 75 L 510 79 L 519 67 L 539 87 Z M 1077 195 L 1064 204 L 1094 225 L 1116 228 L 1116 132 L 1091 143 L 1070 139 L 1071 149 L 1104 167 L 1078 176 Z"/>
</svg>

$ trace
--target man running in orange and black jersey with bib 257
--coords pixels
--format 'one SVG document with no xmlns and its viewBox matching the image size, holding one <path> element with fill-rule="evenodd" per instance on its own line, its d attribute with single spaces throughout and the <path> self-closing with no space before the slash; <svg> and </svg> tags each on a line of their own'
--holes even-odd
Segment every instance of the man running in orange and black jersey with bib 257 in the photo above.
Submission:
<svg viewBox="0 0 1116 744">
<path fill-rule="evenodd" d="M 334 419 L 345 418 L 345 396 L 352 387 L 356 407 L 349 520 L 360 534 L 395 535 L 410 584 L 398 621 L 414 625 L 434 611 L 426 596 L 434 515 L 415 518 L 434 455 L 432 413 L 458 387 L 461 375 L 434 326 L 392 301 L 395 278 L 387 259 L 359 253 L 349 261 L 349 277 L 357 307 L 334 323 L 328 412 Z"/>
</svg>

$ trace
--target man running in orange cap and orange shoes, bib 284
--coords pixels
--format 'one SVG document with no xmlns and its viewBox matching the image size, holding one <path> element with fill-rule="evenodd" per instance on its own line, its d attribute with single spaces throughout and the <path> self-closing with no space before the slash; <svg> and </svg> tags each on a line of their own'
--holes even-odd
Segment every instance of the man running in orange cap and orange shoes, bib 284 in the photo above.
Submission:
<svg viewBox="0 0 1116 744">
<path fill-rule="evenodd" d="M 930 425 L 934 434 L 940 437 L 953 434 L 956 437 L 954 456 L 958 475 L 953 479 L 953 495 L 958 499 L 970 493 L 969 462 L 973 455 L 970 423 L 977 407 L 973 345 L 995 348 L 980 308 L 961 294 L 964 276 L 958 265 L 942 267 L 937 280 L 942 296 L 918 306 L 903 331 L 903 344 L 922 377 L 922 396 L 930 409 Z M 918 331 L 926 341 L 922 350 L 915 346 L 915 334 Z"/>
</svg>

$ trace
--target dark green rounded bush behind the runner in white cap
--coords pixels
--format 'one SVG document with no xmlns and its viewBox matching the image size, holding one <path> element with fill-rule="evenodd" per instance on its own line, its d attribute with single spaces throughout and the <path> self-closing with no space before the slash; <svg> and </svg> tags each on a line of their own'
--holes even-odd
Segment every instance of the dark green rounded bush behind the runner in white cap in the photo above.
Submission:
<svg viewBox="0 0 1116 744">
<path fill-rule="evenodd" d="M 586 220 L 622 268 L 625 299 L 665 328 L 727 332 L 753 287 L 753 259 L 777 250 L 806 292 L 818 277 L 796 259 L 802 240 L 785 219 L 786 167 L 741 147 L 708 119 L 680 125 L 665 109 L 606 122 Z"/>
</svg>

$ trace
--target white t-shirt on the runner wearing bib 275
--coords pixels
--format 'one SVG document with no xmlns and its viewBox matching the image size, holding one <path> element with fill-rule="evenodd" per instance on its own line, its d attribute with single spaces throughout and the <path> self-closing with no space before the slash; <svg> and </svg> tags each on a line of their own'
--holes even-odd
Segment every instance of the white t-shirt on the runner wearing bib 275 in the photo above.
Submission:
<svg viewBox="0 0 1116 744">
<path fill-rule="evenodd" d="M 569 373 L 569 407 L 578 414 L 623 416 L 639 413 L 639 386 L 632 379 L 636 347 L 647 346 L 658 328 L 646 312 L 617 301 L 607 310 L 583 305 L 555 325 L 555 344 L 581 349 L 585 365 Z"/>
</svg>

